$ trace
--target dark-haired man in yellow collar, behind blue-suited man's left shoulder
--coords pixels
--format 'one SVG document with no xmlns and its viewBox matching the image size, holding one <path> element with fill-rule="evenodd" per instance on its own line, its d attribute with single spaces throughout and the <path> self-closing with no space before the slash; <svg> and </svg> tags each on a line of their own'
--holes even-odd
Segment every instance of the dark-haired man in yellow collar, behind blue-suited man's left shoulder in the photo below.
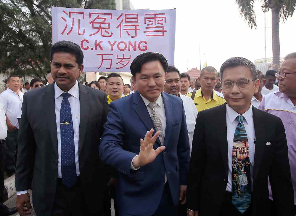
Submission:
<svg viewBox="0 0 296 216">
<path fill-rule="evenodd" d="M 109 73 L 107 77 L 108 104 L 122 97 L 123 79 L 118 73 Z"/>
</svg>

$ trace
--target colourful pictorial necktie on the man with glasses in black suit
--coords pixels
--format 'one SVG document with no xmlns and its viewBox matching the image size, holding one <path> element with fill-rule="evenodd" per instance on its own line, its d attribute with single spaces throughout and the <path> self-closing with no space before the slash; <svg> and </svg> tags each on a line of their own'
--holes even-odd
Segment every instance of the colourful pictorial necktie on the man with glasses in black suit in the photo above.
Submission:
<svg viewBox="0 0 296 216">
<path fill-rule="evenodd" d="M 250 153 L 243 116 L 237 116 L 232 147 L 232 204 L 242 214 L 251 204 Z"/>
</svg>

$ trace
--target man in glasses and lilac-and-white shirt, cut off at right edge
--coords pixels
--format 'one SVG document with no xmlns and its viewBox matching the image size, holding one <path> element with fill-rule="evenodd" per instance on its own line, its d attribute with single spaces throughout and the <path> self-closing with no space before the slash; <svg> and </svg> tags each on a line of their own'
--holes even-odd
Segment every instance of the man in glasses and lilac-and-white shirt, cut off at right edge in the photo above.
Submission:
<svg viewBox="0 0 296 216">
<path fill-rule="evenodd" d="M 294 208 L 296 214 L 296 52 L 288 54 L 284 62 L 275 74 L 279 80 L 279 91 L 266 95 L 259 109 L 279 116 L 284 124 L 288 143 L 289 162 L 291 169 L 292 184 L 294 187 Z M 269 198 L 274 201 L 279 199 L 277 194 L 269 187 Z M 273 196 L 274 195 L 274 196 Z M 274 209 L 276 210 L 276 209 Z M 272 210 L 271 212 L 275 212 Z"/>
</svg>

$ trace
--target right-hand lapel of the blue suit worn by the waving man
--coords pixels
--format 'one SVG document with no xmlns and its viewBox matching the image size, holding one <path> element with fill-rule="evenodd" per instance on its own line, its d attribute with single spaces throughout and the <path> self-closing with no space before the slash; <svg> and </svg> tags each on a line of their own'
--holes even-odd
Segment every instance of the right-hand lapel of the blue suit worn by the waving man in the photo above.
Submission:
<svg viewBox="0 0 296 216">
<path fill-rule="evenodd" d="M 170 134 L 172 132 L 173 127 L 173 108 L 172 104 L 168 100 L 168 97 L 165 95 L 164 92 L 161 92 L 162 98 L 163 98 L 163 105 L 165 108 L 165 140 L 164 145 L 168 144 L 168 141 L 170 140 Z"/>
</svg>

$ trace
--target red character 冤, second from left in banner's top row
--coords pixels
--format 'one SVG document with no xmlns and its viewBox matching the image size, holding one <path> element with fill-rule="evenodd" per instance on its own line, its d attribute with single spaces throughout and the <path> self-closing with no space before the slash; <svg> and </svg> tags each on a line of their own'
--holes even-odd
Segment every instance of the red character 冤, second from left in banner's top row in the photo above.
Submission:
<svg viewBox="0 0 296 216">
<path fill-rule="evenodd" d="M 95 18 L 94 18 L 95 17 Z M 89 18 L 94 18 L 89 22 L 93 29 L 96 29 L 95 33 L 89 34 L 89 36 L 95 35 L 101 32 L 102 37 L 111 37 L 113 33 L 110 31 L 110 22 L 106 22 L 107 18 L 112 20 L 111 13 L 89 13 Z"/>
</svg>

